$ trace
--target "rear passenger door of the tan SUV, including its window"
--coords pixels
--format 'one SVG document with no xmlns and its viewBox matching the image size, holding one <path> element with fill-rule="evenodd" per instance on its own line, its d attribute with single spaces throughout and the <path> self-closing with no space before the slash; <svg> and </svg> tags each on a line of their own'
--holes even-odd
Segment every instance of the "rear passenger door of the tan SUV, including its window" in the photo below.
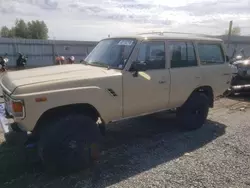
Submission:
<svg viewBox="0 0 250 188">
<path fill-rule="evenodd" d="M 200 86 L 201 71 L 192 41 L 168 41 L 171 75 L 171 108 L 181 106 Z"/>
</svg>

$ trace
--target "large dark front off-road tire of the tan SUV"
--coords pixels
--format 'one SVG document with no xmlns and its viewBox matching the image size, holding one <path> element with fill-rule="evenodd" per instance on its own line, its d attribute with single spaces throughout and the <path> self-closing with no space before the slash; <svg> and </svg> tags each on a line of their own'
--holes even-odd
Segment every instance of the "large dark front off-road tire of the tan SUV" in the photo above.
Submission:
<svg viewBox="0 0 250 188">
<path fill-rule="evenodd" d="M 76 172 L 98 160 L 101 134 L 91 118 L 69 115 L 46 127 L 40 133 L 38 155 L 47 172 Z"/>
</svg>

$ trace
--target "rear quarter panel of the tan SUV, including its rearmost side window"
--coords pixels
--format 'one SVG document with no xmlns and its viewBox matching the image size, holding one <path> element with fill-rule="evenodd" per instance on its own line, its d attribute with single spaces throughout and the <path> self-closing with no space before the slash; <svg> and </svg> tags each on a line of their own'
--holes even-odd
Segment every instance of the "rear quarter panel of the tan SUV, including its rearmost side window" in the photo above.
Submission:
<svg viewBox="0 0 250 188">
<path fill-rule="evenodd" d="M 231 68 L 221 42 L 197 42 L 197 51 L 203 75 L 202 83 L 212 86 L 214 96 L 223 94 L 230 86 Z"/>
</svg>

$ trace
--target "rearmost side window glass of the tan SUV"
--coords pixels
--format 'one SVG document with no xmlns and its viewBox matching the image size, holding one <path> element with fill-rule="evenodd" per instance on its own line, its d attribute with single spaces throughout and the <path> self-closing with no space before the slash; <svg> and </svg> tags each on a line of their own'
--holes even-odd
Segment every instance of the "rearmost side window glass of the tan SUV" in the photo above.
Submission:
<svg viewBox="0 0 250 188">
<path fill-rule="evenodd" d="M 221 64 L 225 62 L 220 44 L 199 43 L 197 47 L 201 64 Z"/>
</svg>

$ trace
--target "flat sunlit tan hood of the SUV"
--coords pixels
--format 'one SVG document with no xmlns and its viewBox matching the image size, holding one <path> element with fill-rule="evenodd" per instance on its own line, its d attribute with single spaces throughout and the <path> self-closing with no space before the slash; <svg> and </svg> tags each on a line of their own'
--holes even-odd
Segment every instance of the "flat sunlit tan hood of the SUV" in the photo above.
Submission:
<svg viewBox="0 0 250 188">
<path fill-rule="evenodd" d="M 12 93 L 17 87 L 41 84 L 51 81 L 70 81 L 74 79 L 101 78 L 119 73 L 119 70 L 71 64 L 8 72 L 1 80 L 1 86 Z"/>
</svg>

